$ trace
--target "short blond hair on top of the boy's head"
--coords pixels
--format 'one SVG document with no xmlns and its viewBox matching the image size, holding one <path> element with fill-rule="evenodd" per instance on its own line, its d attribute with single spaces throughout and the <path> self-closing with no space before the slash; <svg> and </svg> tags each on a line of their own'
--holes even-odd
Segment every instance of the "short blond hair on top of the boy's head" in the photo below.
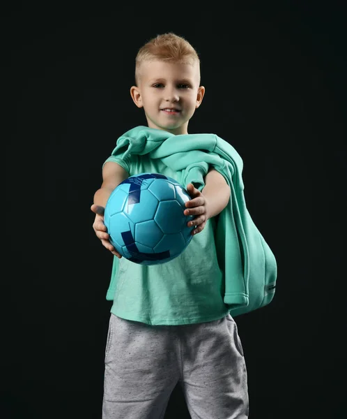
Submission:
<svg viewBox="0 0 347 419">
<path fill-rule="evenodd" d="M 135 83 L 139 82 L 141 64 L 146 61 L 167 61 L 180 64 L 200 64 L 199 54 L 183 36 L 172 32 L 157 35 L 145 43 L 135 59 Z"/>
</svg>

